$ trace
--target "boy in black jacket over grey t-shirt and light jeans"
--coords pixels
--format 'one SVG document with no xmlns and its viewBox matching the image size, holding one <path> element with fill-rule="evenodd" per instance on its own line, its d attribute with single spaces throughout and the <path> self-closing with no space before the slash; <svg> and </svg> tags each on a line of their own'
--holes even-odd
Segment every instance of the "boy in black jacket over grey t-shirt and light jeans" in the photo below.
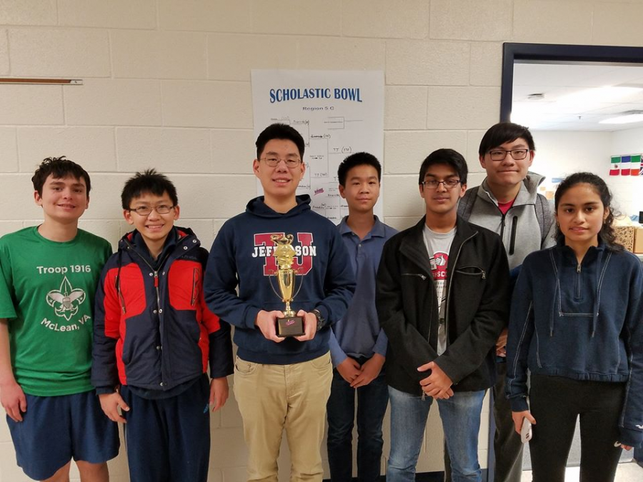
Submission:
<svg viewBox="0 0 643 482">
<path fill-rule="evenodd" d="M 454 482 L 481 481 L 477 441 L 494 347 L 507 324 L 509 267 L 497 234 L 457 217 L 467 163 L 452 149 L 424 159 L 427 214 L 384 246 L 377 311 L 389 338 L 391 453 L 387 482 L 413 480 L 433 399 Z"/>
</svg>

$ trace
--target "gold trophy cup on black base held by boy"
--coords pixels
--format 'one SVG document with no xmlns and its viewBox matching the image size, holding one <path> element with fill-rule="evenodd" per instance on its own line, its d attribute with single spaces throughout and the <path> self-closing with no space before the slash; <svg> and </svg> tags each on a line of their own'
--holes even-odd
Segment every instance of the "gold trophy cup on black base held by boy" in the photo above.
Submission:
<svg viewBox="0 0 643 482">
<path fill-rule="evenodd" d="M 284 318 L 277 318 L 276 321 L 276 336 L 281 338 L 301 336 L 304 334 L 304 318 L 296 316 L 295 311 L 290 307 L 290 302 L 299 293 L 299 289 L 295 292 L 296 272 L 292 268 L 292 258 L 295 256 L 295 250 L 292 247 L 293 236 L 292 234 L 285 236 L 273 234 L 270 239 L 276 244 L 276 248 L 274 248 L 274 257 L 277 264 L 275 276 L 279 286 L 279 293 L 274 288 L 272 281 L 270 286 L 276 296 L 279 296 L 281 301 L 286 303 Z M 299 284 L 299 288 L 301 288 L 301 284 Z"/>
</svg>

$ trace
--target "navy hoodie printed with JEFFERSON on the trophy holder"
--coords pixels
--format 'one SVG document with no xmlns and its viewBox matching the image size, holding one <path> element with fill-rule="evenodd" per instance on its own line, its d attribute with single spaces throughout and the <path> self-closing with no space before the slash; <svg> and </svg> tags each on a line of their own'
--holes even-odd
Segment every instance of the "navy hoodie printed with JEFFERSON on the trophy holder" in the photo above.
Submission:
<svg viewBox="0 0 643 482">
<path fill-rule="evenodd" d="M 329 351 L 329 326 L 344 316 L 355 291 L 354 273 L 344 242 L 331 221 L 310 209 L 310 197 L 297 196 L 285 214 L 252 199 L 246 212 L 221 226 L 210 250 L 204 279 L 208 307 L 235 326 L 234 343 L 240 358 L 254 363 L 287 365 L 317 358 Z M 276 288 L 276 260 L 272 234 L 292 234 L 296 276 L 291 308 L 317 308 L 324 326 L 310 341 L 267 340 L 254 324 L 261 310 L 284 311 Z M 271 286 L 272 285 L 272 286 Z M 238 293 L 237 293 L 238 288 Z"/>
</svg>

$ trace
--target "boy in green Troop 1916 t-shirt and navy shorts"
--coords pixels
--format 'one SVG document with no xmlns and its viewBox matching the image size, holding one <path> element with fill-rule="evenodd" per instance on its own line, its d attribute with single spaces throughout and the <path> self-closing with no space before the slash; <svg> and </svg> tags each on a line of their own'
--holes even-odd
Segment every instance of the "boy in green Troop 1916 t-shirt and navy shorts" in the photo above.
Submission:
<svg viewBox="0 0 643 482">
<path fill-rule="evenodd" d="M 31 178 L 44 221 L 0 239 L 0 401 L 17 463 L 40 481 L 109 481 L 119 435 L 89 381 L 94 292 L 111 246 L 78 229 L 89 174 L 61 158 Z"/>
</svg>

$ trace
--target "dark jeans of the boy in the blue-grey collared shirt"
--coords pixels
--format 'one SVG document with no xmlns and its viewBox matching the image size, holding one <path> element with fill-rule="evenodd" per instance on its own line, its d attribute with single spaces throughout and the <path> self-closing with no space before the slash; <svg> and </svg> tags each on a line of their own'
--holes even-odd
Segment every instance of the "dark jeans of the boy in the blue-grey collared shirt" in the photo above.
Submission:
<svg viewBox="0 0 643 482">
<path fill-rule="evenodd" d="M 384 373 L 367 386 L 351 388 L 333 371 L 328 399 L 328 465 L 332 482 L 350 482 L 353 476 L 353 421 L 357 392 L 357 480 L 375 482 L 382 464 L 382 420 L 389 403 Z"/>
</svg>

